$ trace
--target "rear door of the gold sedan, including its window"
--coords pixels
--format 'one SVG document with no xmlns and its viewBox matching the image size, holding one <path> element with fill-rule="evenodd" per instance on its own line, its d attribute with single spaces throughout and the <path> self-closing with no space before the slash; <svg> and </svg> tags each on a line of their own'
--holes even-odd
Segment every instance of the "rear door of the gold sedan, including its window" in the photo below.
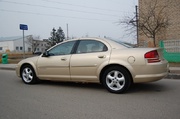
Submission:
<svg viewBox="0 0 180 119">
<path fill-rule="evenodd" d="M 110 50 L 100 41 L 80 40 L 70 61 L 71 80 L 98 82 L 98 70 L 109 62 Z"/>
</svg>

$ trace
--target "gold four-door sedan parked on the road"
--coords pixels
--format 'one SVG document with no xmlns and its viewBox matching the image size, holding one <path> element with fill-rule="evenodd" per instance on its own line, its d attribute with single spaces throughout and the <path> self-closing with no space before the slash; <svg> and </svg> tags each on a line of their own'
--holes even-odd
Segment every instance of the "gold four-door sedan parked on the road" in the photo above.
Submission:
<svg viewBox="0 0 180 119">
<path fill-rule="evenodd" d="M 133 48 L 102 38 L 61 42 L 40 56 L 20 61 L 17 76 L 26 84 L 39 80 L 102 83 L 123 93 L 132 83 L 157 81 L 168 74 L 160 48 Z"/>
</svg>

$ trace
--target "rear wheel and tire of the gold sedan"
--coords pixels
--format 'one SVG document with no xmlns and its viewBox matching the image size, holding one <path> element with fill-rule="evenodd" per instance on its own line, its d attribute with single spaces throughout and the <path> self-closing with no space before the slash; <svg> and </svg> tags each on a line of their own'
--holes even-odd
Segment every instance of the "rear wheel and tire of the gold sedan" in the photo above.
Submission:
<svg viewBox="0 0 180 119">
<path fill-rule="evenodd" d="M 111 93 L 124 93 L 131 85 L 131 76 L 123 67 L 110 67 L 103 74 L 102 83 Z"/>
</svg>

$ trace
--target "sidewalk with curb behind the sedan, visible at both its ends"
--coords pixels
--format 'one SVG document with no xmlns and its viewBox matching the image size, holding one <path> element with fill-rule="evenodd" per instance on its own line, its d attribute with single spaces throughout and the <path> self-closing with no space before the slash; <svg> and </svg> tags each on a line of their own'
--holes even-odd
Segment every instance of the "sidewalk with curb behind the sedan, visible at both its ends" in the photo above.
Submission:
<svg viewBox="0 0 180 119">
<path fill-rule="evenodd" d="M 0 69 L 15 70 L 17 64 L 0 64 Z M 169 75 L 165 78 L 180 79 L 180 67 L 169 67 Z"/>
</svg>

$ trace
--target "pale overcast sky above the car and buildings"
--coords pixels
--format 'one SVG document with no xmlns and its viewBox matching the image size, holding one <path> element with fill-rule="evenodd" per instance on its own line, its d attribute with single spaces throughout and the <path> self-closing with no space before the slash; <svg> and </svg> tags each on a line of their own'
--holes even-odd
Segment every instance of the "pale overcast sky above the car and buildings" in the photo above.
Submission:
<svg viewBox="0 0 180 119">
<path fill-rule="evenodd" d="M 61 27 L 67 37 L 111 37 L 135 42 L 118 21 L 135 15 L 138 0 L 0 0 L 0 37 L 25 35 L 50 37 Z M 67 25 L 68 24 L 68 25 Z M 68 26 L 68 27 L 67 27 Z"/>
</svg>

